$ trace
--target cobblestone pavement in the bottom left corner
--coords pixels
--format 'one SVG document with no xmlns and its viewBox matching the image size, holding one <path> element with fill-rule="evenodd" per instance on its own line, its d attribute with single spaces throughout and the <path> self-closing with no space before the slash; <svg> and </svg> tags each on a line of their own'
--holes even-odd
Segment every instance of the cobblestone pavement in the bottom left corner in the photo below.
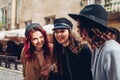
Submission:
<svg viewBox="0 0 120 80">
<path fill-rule="evenodd" d="M 23 80 L 21 65 L 18 70 L 0 67 L 0 80 Z"/>
</svg>

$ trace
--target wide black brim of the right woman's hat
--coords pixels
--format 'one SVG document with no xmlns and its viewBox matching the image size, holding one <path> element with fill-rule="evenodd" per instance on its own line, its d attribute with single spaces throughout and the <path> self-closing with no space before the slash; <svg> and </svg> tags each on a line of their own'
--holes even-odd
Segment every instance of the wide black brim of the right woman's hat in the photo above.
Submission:
<svg viewBox="0 0 120 80">
<path fill-rule="evenodd" d="M 106 25 L 102 24 L 99 20 L 97 20 L 97 18 L 91 18 L 89 16 L 77 15 L 77 14 L 68 14 L 68 15 L 76 21 L 80 20 L 80 21 L 85 21 L 86 23 L 97 25 L 94 26 L 94 28 L 102 29 L 104 31 L 109 30 L 110 32 L 114 32 L 112 29 L 108 28 Z"/>
</svg>

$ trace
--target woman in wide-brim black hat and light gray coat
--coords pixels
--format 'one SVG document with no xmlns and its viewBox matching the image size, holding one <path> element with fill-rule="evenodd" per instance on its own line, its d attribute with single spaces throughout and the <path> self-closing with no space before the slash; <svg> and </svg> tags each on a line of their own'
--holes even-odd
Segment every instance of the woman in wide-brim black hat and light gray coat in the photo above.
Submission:
<svg viewBox="0 0 120 80">
<path fill-rule="evenodd" d="M 93 50 L 93 79 L 120 80 L 120 44 L 112 38 L 114 30 L 107 27 L 107 11 L 101 5 L 91 4 L 80 14 L 69 16 L 78 22 L 80 35 Z"/>
</svg>

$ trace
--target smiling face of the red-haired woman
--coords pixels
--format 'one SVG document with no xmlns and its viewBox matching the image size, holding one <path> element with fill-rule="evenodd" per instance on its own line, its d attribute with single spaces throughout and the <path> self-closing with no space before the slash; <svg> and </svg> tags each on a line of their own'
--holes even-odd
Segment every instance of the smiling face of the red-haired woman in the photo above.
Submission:
<svg viewBox="0 0 120 80">
<path fill-rule="evenodd" d="M 40 31 L 31 34 L 31 43 L 37 51 L 40 51 L 45 43 L 44 36 Z"/>
</svg>

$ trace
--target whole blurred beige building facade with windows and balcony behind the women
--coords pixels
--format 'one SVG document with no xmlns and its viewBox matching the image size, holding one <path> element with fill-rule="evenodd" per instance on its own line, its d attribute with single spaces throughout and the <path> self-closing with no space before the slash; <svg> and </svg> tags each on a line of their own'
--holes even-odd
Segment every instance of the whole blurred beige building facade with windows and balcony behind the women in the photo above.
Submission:
<svg viewBox="0 0 120 80">
<path fill-rule="evenodd" d="M 53 24 L 55 18 L 78 14 L 88 4 L 101 4 L 108 11 L 108 26 L 120 31 L 120 0 L 0 0 L 0 21 L 6 30 L 25 28 L 38 22 L 42 26 Z M 74 27 L 75 28 L 75 27 Z"/>
</svg>

